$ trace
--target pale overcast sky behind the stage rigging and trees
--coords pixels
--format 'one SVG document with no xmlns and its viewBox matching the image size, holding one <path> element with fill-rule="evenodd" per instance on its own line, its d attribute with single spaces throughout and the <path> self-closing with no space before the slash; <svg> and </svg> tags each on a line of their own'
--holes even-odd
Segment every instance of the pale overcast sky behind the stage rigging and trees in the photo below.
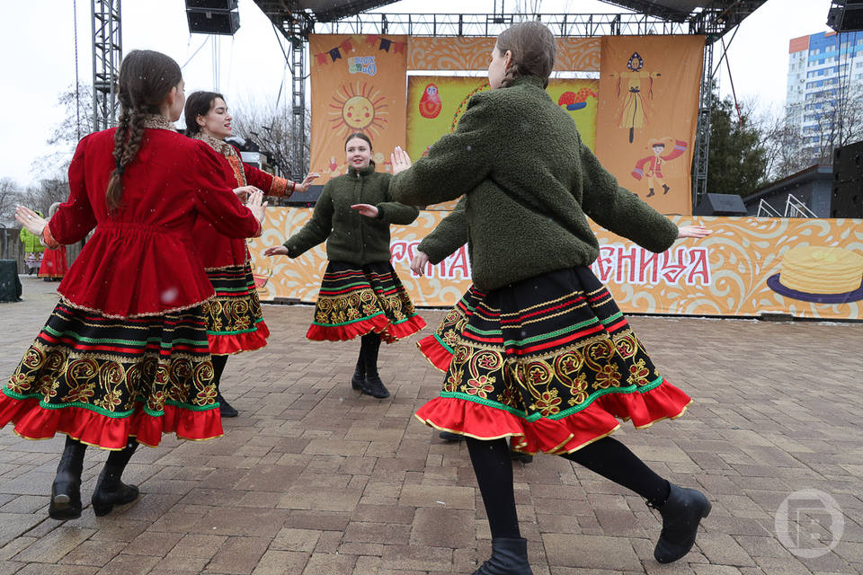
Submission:
<svg viewBox="0 0 863 575">
<path fill-rule="evenodd" d="M 0 137 L 0 178 L 21 184 L 40 179 L 34 160 L 50 152 L 45 142 L 66 111 L 57 106 L 58 95 L 75 84 L 77 21 L 77 69 L 82 82 L 92 75 L 92 23 L 90 2 L 77 0 L 77 19 L 70 0 L 4 2 L 4 85 L 0 110 L 4 119 Z M 430 8 L 430 4 L 434 7 Z M 511 11 L 517 4 L 505 4 Z M 546 13 L 616 13 L 620 10 L 598 0 L 544 0 Z M 768 0 L 743 21 L 728 50 L 728 60 L 738 98 L 757 98 L 764 108 L 778 108 L 785 101 L 788 40 L 828 30 L 830 0 Z M 458 13 L 460 0 L 403 0 L 378 12 Z M 473 13 L 494 12 L 493 0 L 470 3 Z M 260 102 L 272 104 L 284 84 L 280 102 L 290 89 L 285 60 L 270 21 L 253 0 L 240 0 L 240 30 L 234 37 L 190 34 L 183 0 L 123 0 L 123 51 L 156 49 L 183 67 L 186 92 L 211 90 L 225 93 L 228 105 Z M 214 66 L 214 40 L 218 62 Z M 731 39 L 726 35 L 725 41 Z M 722 53 L 717 44 L 715 61 Z M 217 78 L 218 75 L 218 78 Z M 218 79 L 218 85 L 216 85 Z M 719 73 L 720 92 L 731 93 L 725 64 Z M 88 94 L 89 97 L 89 94 Z M 288 97 L 289 100 L 289 97 Z"/>
</svg>

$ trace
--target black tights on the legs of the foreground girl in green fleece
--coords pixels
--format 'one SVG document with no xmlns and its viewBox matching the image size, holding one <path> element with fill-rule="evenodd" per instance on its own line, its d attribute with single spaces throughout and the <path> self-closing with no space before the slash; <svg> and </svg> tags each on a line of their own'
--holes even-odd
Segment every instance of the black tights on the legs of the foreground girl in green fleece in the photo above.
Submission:
<svg viewBox="0 0 863 575">
<path fill-rule="evenodd" d="M 492 537 L 520 537 L 512 489 L 512 462 L 506 439 L 483 441 L 467 438 L 467 452 L 483 496 Z M 617 439 L 601 438 L 563 457 L 635 491 L 654 506 L 661 506 L 668 498 L 669 483 Z"/>
</svg>

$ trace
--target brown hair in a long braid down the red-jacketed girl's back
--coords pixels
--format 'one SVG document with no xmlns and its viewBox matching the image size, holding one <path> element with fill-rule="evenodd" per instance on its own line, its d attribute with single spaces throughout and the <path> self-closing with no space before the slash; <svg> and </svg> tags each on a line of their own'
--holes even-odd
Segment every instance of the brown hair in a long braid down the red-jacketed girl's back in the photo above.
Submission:
<svg viewBox="0 0 863 575">
<path fill-rule="evenodd" d="M 114 133 L 114 171 L 105 191 L 109 210 L 120 206 L 123 172 L 138 155 L 144 136 L 144 117 L 158 114 L 168 93 L 181 81 L 180 66 L 161 52 L 132 50 L 123 58 L 117 93 L 120 119 Z"/>
</svg>

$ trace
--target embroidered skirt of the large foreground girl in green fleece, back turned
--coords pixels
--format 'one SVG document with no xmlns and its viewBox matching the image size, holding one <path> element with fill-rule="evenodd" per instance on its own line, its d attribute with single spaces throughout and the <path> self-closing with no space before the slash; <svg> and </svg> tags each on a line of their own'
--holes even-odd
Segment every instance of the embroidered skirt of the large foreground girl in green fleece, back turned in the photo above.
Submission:
<svg viewBox="0 0 863 575">
<path fill-rule="evenodd" d="M 587 268 L 471 288 L 435 336 L 420 347 L 446 369 L 443 390 L 416 417 L 473 438 L 511 437 L 525 453 L 569 453 L 618 420 L 645 428 L 691 403 Z"/>
</svg>

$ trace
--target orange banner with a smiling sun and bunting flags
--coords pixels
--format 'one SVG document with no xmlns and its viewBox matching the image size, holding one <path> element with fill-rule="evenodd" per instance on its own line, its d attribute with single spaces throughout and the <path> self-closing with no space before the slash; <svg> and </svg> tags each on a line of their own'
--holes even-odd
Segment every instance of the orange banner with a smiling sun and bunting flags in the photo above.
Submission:
<svg viewBox="0 0 863 575">
<path fill-rule="evenodd" d="M 311 34 L 311 161 L 316 184 L 347 172 L 344 139 L 363 132 L 378 172 L 405 144 L 407 39 L 378 34 Z"/>
</svg>

